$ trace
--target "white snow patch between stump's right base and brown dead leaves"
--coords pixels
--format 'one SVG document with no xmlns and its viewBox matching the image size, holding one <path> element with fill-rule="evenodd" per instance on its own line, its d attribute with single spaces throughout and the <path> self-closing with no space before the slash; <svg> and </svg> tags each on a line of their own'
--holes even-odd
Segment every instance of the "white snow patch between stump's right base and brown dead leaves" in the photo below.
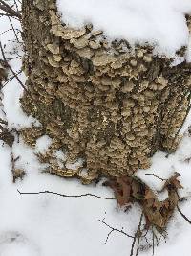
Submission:
<svg viewBox="0 0 191 256">
<path fill-rule="evenodd" d="M 187 119 L 191 125 L 191 119 Z M 189 160 L 190 159 L 190 160 Z M 180 183 L 184 189 L 180 191 L 181 197 L 191 196 L 191 137 L 187 132 L 180 142 L 177 151 L 169 156 L 164 152 L 157 152 L 152 158 L 152 166 L 147 170 L 138 170 L 137 176 L 148 184 L 153 190 L 159 192 L 165 180 L 154 177 L 152 174 L 162 179 L 168 179 L 177 172 L 180 174 Z M 150 174 L 150 175 L 148 175 Z"/>
</svg>

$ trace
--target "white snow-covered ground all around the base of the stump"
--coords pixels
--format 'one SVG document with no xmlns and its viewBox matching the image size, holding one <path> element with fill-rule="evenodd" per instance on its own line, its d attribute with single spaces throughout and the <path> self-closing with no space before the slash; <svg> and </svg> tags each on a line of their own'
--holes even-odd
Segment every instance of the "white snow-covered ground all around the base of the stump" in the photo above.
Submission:
<svg viewBox="0 0 191 256">
<path fill-rule="evenodd" d="M 180 3 L 180 1 L 174 1 Z M 63 2 L 69 3 L 70 1 Z M 73 2 L 76 1 L 71 1 Z M 170 0 L 168 2 L 172 3 Z M 187 6 L 189 6 L 188 2 Z M 14 25 L 20 29 L 18 22 L 14 22 Z M 9 52 L 18 46 L 10 29 L 9 19 L 1 17 L 0 40 L 2 44 L 7 45 L 5 50 L 9 58 L 11 57 Z M 8 32 L 4 33 L 5 31 Z M 21 50 L 19 54 L 22 54 Z M 15 72 L 19 71 L 20 58 L 12 59 L 11 67 Z M 25 81 L 23 74 L 19 75 L 19 78 Z M 10 129 L 30 126 L 32 122 L 35 122 L 20 108 L 19 97 L 22 92 L 23 89 L 16 79 L 9 82 L 3 89 L 4 109 L 1 108 L 0 117 L 7 119 Z M 181 195 L 188 198 L 188 201 L 180 204 L 180 208 L 191 219 L 189 200 L 191 161 L 188 160 L 191 157 L 191 137 L 188 136 L 187 131 L 189 125 L 191 125 L 191 115 L 182 130 L 184 138 L 178 151 L 168 158 L 163 152 L 156 153 L 152 167 L 146 171 L 138 171 L 138 176 L 145 178 L 145 181 L 158 191 L 163 183 L 152 175 L 145 176 L 146 173 L 155 173 L 160 177 L 168 178 L 174 172 L 179 172 L 181 184 L 184 186 Z M 42 141 L 48 147 L 50 140 L 44 138 Z M 105 218 L 104 221 L 109 225 L 119 230 L 124 227 L 125 232 L 134 235 L 141 213 L 138 205 L 134 205 L 127 213 L 124 213 L 117 208 L 115 200 L 92 197 L 62 198 L 48 194 L 20 195 L 17 192 L 18 189 L 21 192 L 49 190 L 67 195 L 92 193 L 105 198 L 114 197 L 112 191 L 99 184 L 96 187 L 83 186 L 74 179 L 43 174 L 41 172 L 43 166 L 39 164 L 35 156 L 35 151 L 39 151 L 39 148 L 42 148 L 42 145 L 38 144 L 36 149 L 30 149 L 22 139 L 15 140 L 12 148 L 0 141 L 0 256 L 130 255 L 132 239 L 121 233 L 113 232 L 107 244 L 104 244 L 111 229 L 98 220 Z M 17 180 L 14 184 L 11 173 L 12 154 L 15 159 L 20 157 L 15 163 L 16 167 L 26 171 L 24 179 Z M 190 239 L 191 226 L 180 217 L 179 213 L 176 213 L 169 223 L 166 243 L 161 240 L 155 249 L 155 255 L 189 256 Z M 152 249 L 143 251 L 140 255 L 152 255 Z"/>
</svg>

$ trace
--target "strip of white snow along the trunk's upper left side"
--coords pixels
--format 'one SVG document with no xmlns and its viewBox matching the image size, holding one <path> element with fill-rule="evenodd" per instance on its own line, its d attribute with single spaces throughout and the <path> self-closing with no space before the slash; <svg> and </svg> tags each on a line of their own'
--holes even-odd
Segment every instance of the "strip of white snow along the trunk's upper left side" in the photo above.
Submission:
<svg viewBox="0 0 191 256">
<path fill-rule="evenodd" d="M 0 17 L 1 27 L 0 27 L 0 39 L 2 45 L 6 45 L 5 53 L 7 58 L 12 58 L 11 67 L 17 74 L 21 70 L 21 57 L 22 47 L 15 40 L 15 35 L 11 32 L 11 25 L 9 21 L 6 22 L 6 18 Z M 14 26 L 20 30 L 20 24 L 18 21 L 14 21 Z M 6 32 L 6 33 L 5 33 Z M 16 51 L 16 53 L 15 53 Z M 3 59 L 0 52 L 0 58 Z M 12 77 L 12 74 L 11 76 Z M 25 83 L 25 76 L 23 73 L 18 74 L 20 81 Z M 6 92 L 6 93 L 5 93 Z M 21 104 L 19 99 L 23 94 L 23 88 L 15 79 L 9 82 L 8 86 L 2 89 L 4 111 L 6 117 L 9 120 L 9 128 L 21 128 L 21 127 L 31 127 L 32 123 L 38 125 L 38 122 L 32 118 L 32 116 L 27 116 L 21 109 Z"/>
</svg>

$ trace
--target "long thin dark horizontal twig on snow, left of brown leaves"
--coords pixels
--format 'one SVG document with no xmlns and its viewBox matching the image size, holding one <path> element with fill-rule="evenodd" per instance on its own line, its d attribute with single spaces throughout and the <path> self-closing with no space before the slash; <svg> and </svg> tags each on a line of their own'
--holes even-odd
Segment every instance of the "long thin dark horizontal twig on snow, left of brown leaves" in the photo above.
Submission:
<svg viewBox="0 0 191 256">
<path fill-rule="evenodd" d="M 53 191 L 39 191 L 39 192 L 21 192 L 19 190 L 17 190 L 18 193 L 20 195 L 40 195 L 40 194 L 53 194 L 59 197 L 63 197 L 63 198 L 84 198 L 84 197 L 93 197 L 93 198 L 99 198 L 99 199 L 105 199 L 105 200 L 115 200 L 116 198 L 104 198 L 104 197 L 100 197 L 97 196 L 95 194 L 91 194 L 91 193 L 86 193 L 86 194 L 81 194 L 81 195 L 66 195 L 66 194 L 60 194 L 57 192 L 53 192 Z"/>
</svg>

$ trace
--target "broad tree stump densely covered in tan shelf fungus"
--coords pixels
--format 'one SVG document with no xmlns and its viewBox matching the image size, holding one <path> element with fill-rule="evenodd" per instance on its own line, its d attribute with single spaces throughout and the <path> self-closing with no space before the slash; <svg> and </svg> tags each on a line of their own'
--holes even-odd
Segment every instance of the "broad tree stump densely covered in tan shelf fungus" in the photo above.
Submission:
<svg viewBox="0 0 191 256">
<path fill-rule="evenodd" d="M 51 173 L 89 181 L 132 175 L 149 168 L 156 151 L 175 151 L 189 107 L 189 64 L 174 66 L 149 45 L 108 42 L 91 24 L 70 28 L 53 0 L 23 1 L 23 39 L 28 91 L 21 102 L 56 141 L 40 156 Z M 61 149 L 70 164 L 83 159 L 77 171 L 53 160 Z"/>
</svg>

